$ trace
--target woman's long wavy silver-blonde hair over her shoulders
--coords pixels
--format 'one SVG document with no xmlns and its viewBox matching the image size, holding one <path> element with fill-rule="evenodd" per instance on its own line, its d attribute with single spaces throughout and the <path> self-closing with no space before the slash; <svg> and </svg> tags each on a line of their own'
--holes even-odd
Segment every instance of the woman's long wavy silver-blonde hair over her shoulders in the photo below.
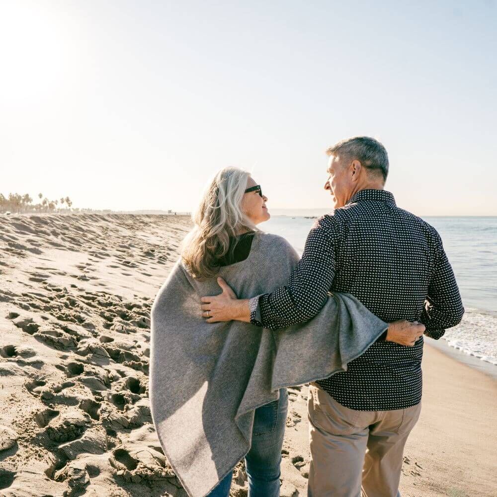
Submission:
<svg viewBox="0 0 497 497">
<path fill-rule="evenodd" d="M 230 250 L 230 237 L 259 231 L 242 211 L 249 177 L 238 167 L 225 167 L 208 183 L 181 251 L 183 264 L 195 278 L 217 273 L 219 259 Z"/>
</svg>

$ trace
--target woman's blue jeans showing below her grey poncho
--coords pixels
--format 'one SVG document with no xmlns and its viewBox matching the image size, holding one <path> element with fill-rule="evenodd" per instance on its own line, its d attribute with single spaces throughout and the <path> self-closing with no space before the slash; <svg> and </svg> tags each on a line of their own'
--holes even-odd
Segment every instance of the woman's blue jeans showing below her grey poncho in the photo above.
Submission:
<svg viewBox="0 0 497 497">
<path fill-rule="evenodd" d="M 279 497 L 281 448 L 285 436 L 288 392 L 280 388 L 280 398 L 255 410 L 252 444 L 245 456 L 248 497 Z M 206 497 L 228 497 L 230 471 Z"/>
</svg>

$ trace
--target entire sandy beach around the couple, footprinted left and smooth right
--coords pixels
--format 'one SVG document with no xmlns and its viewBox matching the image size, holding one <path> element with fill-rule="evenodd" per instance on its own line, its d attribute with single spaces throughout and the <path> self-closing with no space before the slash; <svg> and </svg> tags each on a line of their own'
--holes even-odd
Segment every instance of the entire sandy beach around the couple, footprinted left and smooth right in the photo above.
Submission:
<svg viewBox="0 0 497 497">
<path fill-rule="evenodd" d="M 148 400 L 150 308 L 181 216 L 0 216 L 0 496 L 185 496 Z M 497 495 L 497 383 L 426 340 L 403 497 Z M 307 387 L 289 389 L 281 496 L 307 495 Z M 232 495 L 247 495 L 243 464 Z"/>
</svg>

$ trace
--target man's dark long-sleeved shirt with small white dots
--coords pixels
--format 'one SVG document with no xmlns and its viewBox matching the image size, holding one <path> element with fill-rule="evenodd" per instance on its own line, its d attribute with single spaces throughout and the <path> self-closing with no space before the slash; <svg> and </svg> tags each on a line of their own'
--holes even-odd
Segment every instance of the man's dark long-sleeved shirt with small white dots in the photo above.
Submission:
<svg viewBox="0 0 497 497">
<path fill-rule="evenodd" d="M 250 321 L 271 330 L 304 323 L 330 291 L 351 293 L 387 323 L 419 321 L 435 339 L 464 314 L 437 231 L 384 190 L 361 190 L 318 219 L 288 284 L 250 300 Z M 413 347 L 378 340 L 347 371 L 317 383 L 350 409 L 405 409 L 421 400 L 422 352 L 423 337 Z"/>
</svg>

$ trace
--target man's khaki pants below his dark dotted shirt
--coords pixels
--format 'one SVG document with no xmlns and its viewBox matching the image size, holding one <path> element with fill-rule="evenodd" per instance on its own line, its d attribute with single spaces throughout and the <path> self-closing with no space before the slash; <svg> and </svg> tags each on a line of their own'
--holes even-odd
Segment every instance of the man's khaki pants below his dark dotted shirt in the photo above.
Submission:
<svg viewBox="0 0 497 497">
<path fill-rule="evenodd" d="M 421 403 L 356 411 L 311 383 L 308 497 L 400 497 L 404 445 L 420 411 Z"/>
</svg>

